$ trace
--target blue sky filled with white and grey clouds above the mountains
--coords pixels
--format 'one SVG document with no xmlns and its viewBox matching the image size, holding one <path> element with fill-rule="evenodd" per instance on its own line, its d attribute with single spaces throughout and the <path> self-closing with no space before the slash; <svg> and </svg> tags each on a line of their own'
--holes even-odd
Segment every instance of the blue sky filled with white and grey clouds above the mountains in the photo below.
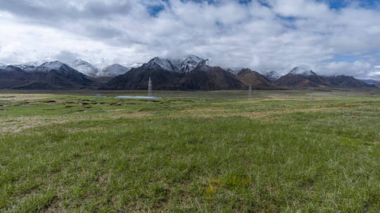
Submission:
<svg viewBox="0 0 380 213">
<path fill-rule="evenodd" d="M 380 79 L 380 0 L 0 0 L 0 62 L 198 55 Z"/>
</svg>

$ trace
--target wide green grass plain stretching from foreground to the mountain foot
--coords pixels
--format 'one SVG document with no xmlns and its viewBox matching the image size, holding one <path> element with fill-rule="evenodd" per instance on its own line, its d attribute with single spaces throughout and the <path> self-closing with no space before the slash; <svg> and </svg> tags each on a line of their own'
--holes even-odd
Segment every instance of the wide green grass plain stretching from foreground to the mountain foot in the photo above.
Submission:
<svg viewBox="0 0 380 213">
<path fill-rule="evenodd" d="M 378 91 L 44 93 L 0 92 L 0 212 L 380 212 Z"/>
</svg>

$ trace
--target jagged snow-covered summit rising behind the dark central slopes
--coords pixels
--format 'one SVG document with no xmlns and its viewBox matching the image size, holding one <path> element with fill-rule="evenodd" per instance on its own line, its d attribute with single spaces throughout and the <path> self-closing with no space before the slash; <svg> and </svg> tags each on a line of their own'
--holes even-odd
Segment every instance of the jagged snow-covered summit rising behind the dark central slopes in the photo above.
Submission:
<svg viewBox="0 0 380 213">
<path fill-rule="evenodd" d="M 208 60 L 196 55 L 187 55 L 180 59 L 154 57 L 147 64 L 157 64 L 159 67 L 167 71 L 176 71 L 186 74 L 195 69 L 199 64 L 206 64 L 207 61 Z"/>
</svg>

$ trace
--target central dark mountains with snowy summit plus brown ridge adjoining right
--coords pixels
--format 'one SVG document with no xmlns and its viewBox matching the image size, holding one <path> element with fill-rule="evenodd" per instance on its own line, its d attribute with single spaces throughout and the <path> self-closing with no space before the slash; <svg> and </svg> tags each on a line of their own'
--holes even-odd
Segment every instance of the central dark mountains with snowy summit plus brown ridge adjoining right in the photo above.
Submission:
<svg viewBox="0 0 380 213">
<path fill-rule="evenodd" d="M 116 76 L 103 87 L 108 90 L 146 89 L 148 78 L 156 90 L 279 90 L 265 76 L 251 69 L 210 67 L 208 60 L 195 55 L 170 60 L 154 57 L 141 67 Z"/>
</svg>

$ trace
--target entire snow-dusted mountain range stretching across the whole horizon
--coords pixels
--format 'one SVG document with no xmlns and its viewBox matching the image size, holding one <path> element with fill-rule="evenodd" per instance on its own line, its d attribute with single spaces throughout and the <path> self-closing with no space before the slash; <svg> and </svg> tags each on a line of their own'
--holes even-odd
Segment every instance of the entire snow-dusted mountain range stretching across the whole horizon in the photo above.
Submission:
<svg viewBox="0 0 380 213">
<path fill-rule="evenodd" d="M 100 88 L 146 90 L 148 78 L 155 90 L 286 90 L 305 88 L 376 88 L 379 82 L 352 76 L 321 76 L 295 67 L 288 74 L 259 73 L 243 67 L 213 67 L 196 55 L 170 59 L 153 57 L 148 62 L 110 64 L 100 68 L 84 60 L 62 62 L 0 63 L 0 89 L 59 90 Z"/>
</svg>

